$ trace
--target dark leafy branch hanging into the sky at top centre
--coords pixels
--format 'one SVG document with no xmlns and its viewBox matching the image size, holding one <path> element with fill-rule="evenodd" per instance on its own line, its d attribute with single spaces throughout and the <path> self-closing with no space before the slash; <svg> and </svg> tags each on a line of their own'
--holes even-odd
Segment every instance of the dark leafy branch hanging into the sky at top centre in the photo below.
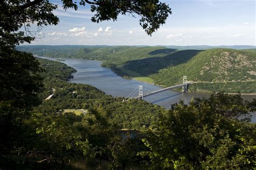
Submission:
<svg viewBox="0 0 256 170">
<path fill-rule="evenodd" d="M 86 1 L 81 1 L 85 4 Z M 161 3 L 158 0 L 154 1 L 101 1 L 97 0 L 91 3 L 91 11 L 96 14 L 91 18 L 92 22 L 117 21 L 119 14 L 129 14 L 133 16 L 136 13 L 140 19 L 139 24 L 145 30 L 147 35 L 152 35 L 153 32 L 163 25 L 167 17 L 172 13 L 169 5 Z M 134 17 L 134 16 L 133 16 Z"/>
</svg>

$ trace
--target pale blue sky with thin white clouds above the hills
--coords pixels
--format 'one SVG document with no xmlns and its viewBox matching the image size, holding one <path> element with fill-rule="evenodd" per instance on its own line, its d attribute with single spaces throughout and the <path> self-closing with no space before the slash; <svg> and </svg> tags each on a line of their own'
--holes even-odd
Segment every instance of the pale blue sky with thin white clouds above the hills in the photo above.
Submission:
<svg viewBox="0 0 256 170">
<path fill-rule="evenodd" d="M 173 0 L 166 24 L 146 35 L 138 17 L 119 16 L 118 21 L 92 23 L 90 5 L 64 11 L 60 1 L 54 12 L 58 25 L 45 26 L 42 39 L 48 45 L 256 45 L 254 0 Z"/>
</svg>

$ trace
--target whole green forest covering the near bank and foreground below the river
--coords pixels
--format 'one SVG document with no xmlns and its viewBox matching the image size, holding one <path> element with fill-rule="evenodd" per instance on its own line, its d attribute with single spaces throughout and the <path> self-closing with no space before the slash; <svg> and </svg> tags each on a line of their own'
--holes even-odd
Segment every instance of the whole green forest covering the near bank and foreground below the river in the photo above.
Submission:
<svg viewBox="0 0 256 170">
<path fill-rule="evenodd" d="M 37 60 L 44 70 L 41 104 L 17 127 L 19 134 L 11 145 L 19 149 L 7 154 L 11 147 L 2 148 L 3 168 L 255 165 L 255 124 L 247 123 L 249 118 L 237 118 L 255 111 L 256 100 L 248 102 L 239 94 L 216 93 L 210 99 L 193 99 L 189 105 L 181 101 L 165 110 L 144 100 L 124 101 L 90 85 L 68 83 L 74 69 L 51 60 Z M 45 100 L 52 89 L 54 95 Z M 63 111 L 81 108 L 85 114 Z"/>
</svg>

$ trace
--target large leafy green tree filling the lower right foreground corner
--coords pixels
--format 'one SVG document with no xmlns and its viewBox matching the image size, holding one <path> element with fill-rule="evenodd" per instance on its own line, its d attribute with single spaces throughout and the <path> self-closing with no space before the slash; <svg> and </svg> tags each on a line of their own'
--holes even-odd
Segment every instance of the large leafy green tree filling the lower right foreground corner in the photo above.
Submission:
<svg viewBox="0 0 256 170">
<path fill-rule="evenodd" d="M 172 105 L 160 117 L 156 130 L 148 131 L 144 144 L 149 151 L 140 155 L 150 159 L 152 169 L 253 168 L 255 124 L 227 117 L 225 113 L 239 105 L 227 107 L 220 102 L 224 99 L 234 97 L 219 94 L 208 100 L 195 99 L 189 105 Z"/>
</svg>

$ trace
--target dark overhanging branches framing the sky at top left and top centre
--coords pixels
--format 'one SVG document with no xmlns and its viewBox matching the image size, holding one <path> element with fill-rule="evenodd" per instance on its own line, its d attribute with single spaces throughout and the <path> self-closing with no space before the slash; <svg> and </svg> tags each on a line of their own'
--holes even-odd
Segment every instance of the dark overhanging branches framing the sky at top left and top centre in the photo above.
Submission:
<svg viewBox="0 0 256 170">
<path fill-rule="evenodd" d="M 78 5 L 90 5 L 95 15 L 92 22 L 117 21 L 118 15 L 138 15 L 139 24 L 148 35 L 152 35 L 160 25 L 164 24 L 172 13 L 171 8 L 158 0 L 130 0 L 130 1 L 86 1 L 63 0 L 63 8 L 78 10 Z M 57 25 L 59 19 L 53 14 L 58 5 L 48 0 L 4 0 L 0 2 L 0 36 L 1 46 L 30 43 L 35 39 L 36 32 L 44 25 Z M 30 30 L 31 25 L 37 25 L 38 30 Z M 25 31 L 20 31 L 24 26 Z"/>
</svg>

